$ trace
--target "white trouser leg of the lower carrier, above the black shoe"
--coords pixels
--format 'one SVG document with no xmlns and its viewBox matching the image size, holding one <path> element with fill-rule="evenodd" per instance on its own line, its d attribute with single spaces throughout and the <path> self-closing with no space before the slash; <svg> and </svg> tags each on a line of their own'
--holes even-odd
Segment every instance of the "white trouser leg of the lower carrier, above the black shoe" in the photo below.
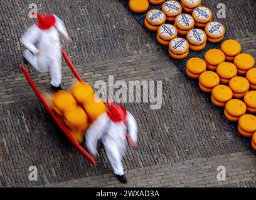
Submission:
<svg viewBox="0 0 256 200">
<path fill-rule="evenodd" d="M 124 174 L 124 167 L 122 165 L 122 155 L 120 153 L 120 149 L 117 146 L 105 146 L 105 151 L 107 154 L 107 158 L 109 158 L 110 164 L 114 169 L 114 173 L 116 175 Z"/>
</svg>

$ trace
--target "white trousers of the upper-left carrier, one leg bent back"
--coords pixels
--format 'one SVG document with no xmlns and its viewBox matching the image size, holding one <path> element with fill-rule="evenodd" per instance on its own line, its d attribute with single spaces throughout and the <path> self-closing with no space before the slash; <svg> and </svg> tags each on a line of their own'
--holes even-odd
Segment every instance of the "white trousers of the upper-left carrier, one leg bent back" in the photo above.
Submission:
<svg viewBox="0 0 256 200">
<path fill-rule="evenodd" d="M 60 58 L 45 60 L 44 58 L 40 58 L 40 56 L 36 56 L 31 53 L 28 49 L 26 49 L 23 53 L 24 58 L 28 60 L 28 62 L 40 73 L 45 73 L 50 69 L 51 74 L 51 85 L 58 87 L 61 84 L 61 54 Z"/>
</svg>

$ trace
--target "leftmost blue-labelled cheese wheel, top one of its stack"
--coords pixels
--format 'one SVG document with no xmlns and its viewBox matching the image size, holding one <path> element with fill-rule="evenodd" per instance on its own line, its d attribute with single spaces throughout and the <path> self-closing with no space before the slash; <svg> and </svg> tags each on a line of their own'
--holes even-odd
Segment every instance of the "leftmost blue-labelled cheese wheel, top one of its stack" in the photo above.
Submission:
<svg viewBox="0 0 256 200">
<path fill-rule="evenodd" d="M 166 21 L 166 15 L 159 9 L 147 11 L 146 20 L 153 26 L 161 26 Z"/>
</svg>

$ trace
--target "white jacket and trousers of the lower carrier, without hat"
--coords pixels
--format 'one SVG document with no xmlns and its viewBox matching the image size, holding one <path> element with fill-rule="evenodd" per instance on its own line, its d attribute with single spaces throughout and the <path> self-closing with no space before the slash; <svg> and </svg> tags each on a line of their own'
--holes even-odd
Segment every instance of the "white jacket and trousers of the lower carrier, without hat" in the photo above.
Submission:
<svg viewBox="0 0 256 200">
<path fill-rule="evenodd" d="M 127 112 L 128 134 L 132 141 L 137 141 L 137 123 L 131 113 Z M 90 126 L 85 134 L 85 143 L 92 154 L 97 154 L 97 144 L 101 140 L 109 158 L 114 173 L 122 175 L 122 157 L 127 147 L 126 126 L 124 122 L 114 123 L 110 121 L 106 113 L 102 114 Z"/>
</svg>

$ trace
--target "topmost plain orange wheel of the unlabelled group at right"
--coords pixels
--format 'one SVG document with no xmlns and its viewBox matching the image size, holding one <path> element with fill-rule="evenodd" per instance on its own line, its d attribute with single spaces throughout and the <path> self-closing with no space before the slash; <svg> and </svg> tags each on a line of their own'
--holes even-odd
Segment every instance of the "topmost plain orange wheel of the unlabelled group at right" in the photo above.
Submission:
<svg viewBox="0 0 256 200">
<path fill-rule="evenodd" d="M 237 56 L 241 52 L 241 45 L 233 39 L 228 39 L 221 44 L 221 51 L 230 57 Z"/>
</svg>

